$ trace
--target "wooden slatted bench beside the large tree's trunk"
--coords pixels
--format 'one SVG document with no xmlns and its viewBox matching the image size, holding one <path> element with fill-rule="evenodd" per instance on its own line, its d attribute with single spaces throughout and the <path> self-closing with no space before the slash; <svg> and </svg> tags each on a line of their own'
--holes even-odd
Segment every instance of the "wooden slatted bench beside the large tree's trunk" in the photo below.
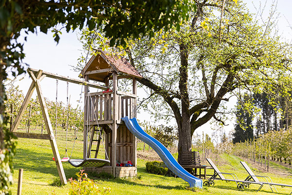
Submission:
<svg viewBox="0 0 292 195">
<path fill-rule="evenodd" d="M 206 175 L 206 169 L 213 169 L 212 167 L 201 165 L 199 151 L 198 152 L 196 151 L 183 152 L 181 165 L 184 169 L 195 169 L 194 176 L 199 176 L 200 178 L 204 177 L 204 179 L 206 179 L 206 176 L 209 176 L 209 175 Z M 199 175 L 198 175 L 197 169 L 199 169 Z M 203 174 L 201 173 L 201 170 L 204 170 Z"/>
</svg>

